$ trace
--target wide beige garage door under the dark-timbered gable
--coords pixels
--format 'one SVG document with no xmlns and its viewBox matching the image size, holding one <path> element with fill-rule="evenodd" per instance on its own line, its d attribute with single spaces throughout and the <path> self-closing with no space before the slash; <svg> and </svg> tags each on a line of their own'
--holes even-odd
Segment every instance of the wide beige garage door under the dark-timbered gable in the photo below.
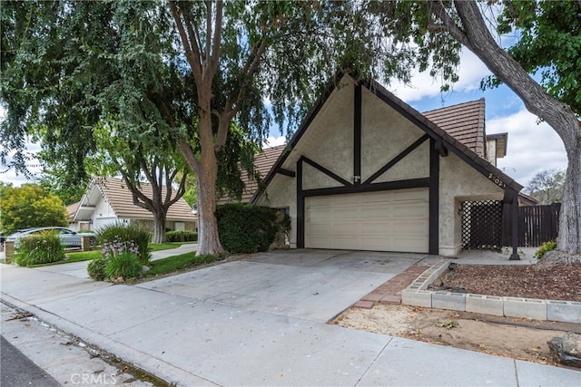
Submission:
<svg viewBox="0 0 581 387">
<path fill-rule="evenodd" d="M 305 199 L 305 247 L 428 253 L 428 189 Z"/>
</svg>

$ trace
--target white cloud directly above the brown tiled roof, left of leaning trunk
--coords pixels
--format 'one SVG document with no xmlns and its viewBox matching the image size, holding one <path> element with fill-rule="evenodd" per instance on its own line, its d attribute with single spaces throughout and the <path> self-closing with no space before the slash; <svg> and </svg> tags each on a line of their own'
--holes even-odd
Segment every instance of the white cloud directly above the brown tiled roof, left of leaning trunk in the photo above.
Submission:
<svg viewBox="0 0 581 387">
<path fill-rule="evenodd" d="M 487 66 L 474 53 L 464 48 L 462 49 L 460 65 L 458 66 L 459 80 L 453 85 L 453 90 L 454 92 L 477 90 L 480 87 L 482 78 L 490 74 Z M 402 82 L 391 82 L 389 91 L 409 103 L 426 97 L 438 96 L 441 84 L 442 82 L 429 75 L 429 71 L 419 73 L 416 70 L 409 85 Z"/>
</svg>

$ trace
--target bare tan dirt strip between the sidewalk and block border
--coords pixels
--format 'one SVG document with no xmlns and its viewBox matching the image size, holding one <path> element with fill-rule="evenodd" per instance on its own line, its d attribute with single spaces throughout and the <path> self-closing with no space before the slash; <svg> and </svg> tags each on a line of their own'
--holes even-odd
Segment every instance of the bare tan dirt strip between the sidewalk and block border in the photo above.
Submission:
<svg viewBox="0 0 581 387">
<path fill-rule="evenodd" d="M 581 333 L 579 324 L 383 304 L 350 308 L 330 324 L 554 365 L 547 341 Z"/>
</svg>

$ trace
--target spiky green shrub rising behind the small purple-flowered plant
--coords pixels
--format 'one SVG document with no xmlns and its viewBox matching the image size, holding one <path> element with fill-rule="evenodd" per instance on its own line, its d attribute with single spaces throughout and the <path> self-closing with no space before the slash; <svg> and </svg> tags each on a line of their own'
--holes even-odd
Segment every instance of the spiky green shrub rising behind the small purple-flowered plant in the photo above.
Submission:
<svg viewBox="0 0 581 387">
<path fill-rule="evenodd" d="M 124 225 L 117 222 L 98 229 L 95 235 L 98 244 L 103 248 L 105 245 L 115 242 L 133 243 L 137 247 L 136 254 L 142 265 L 149 264 L 151 254 L 148 245 L 152 235 L 147 228 L 138 224 Z"/>
</svg>

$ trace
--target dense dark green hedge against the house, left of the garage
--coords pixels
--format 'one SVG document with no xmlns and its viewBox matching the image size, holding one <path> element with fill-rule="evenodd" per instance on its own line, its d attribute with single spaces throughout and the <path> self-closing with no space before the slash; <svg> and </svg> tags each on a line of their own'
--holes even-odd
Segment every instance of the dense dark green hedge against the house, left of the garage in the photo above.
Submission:
<svg viewBox="0 0 581 387">
<path fill-rule="evenodd" d="M 255 253 L 271 247 L 275 237 L 290 225 L 273 208 L 225 204 L 216 209 L 222 247 L 231 253 Z"/>
</svg>

